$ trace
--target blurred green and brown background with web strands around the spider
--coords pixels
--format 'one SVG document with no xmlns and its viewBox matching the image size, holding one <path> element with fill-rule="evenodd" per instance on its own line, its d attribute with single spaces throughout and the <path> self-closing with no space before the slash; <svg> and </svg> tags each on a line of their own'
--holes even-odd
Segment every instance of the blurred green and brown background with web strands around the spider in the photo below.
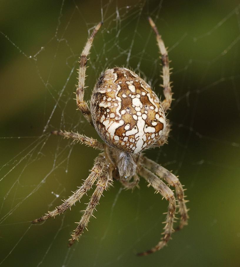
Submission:
<svg viewBox="0 0 240 267">
<path fill-rule="evenodd" d="M 239 266 L 239 1 L 1 1 L 0 10 L 0 265 Z M 159 241 L 167 203 L 144 181 L 134 192 L 115 182 L 69 249 L 88 197 L 43 225 L 30 221 L 81 185 L 98 152 L 49 132 L 98 138 L 72 92 L 88 30 L 102 17 L 86 99 L 112 66 L 133 68 L 161 95 L 149 15 L 169 47 L 175 101 L 169 145 L 146 155 L 185 184 L 189 225 L 162 251 L 136 257 Z"/>
</svg>

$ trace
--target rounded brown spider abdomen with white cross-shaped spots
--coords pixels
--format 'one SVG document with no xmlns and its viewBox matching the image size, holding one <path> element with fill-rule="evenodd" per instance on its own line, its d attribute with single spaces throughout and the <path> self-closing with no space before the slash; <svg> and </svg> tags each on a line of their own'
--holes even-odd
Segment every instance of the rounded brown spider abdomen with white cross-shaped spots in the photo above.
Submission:
<svg viewBox="0 0 240 267">
<path fill-rule="evenodd" d="M 166 127 L 159 98 L 126 68 L 108 69 L 99 78 L 91 97 L 91 112 L 100 137 L 129 153 L 151 146 Z"/>
</svg>

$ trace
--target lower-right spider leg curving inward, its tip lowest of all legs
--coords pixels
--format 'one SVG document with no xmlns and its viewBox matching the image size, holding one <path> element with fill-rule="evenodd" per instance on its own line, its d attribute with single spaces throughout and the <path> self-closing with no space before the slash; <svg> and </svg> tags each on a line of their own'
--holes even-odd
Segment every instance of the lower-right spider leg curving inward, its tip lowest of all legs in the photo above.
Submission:
<svg viewBox="0 0 240 267">
<path fill-rule="evenodd" d="M 148 169 L 142 167 L 140 169 L 139 174 L 149 182 L 148 186 L 151 185 L 157 192 L 159 192 L 166 200 L 169 201 L 168 212 L 165 222 L 166 225 L 164 227 L 162 240 L 159 241 L 159 243 L 150 250 L 137 254 L 138 256 L 146 256 L 150 253 L 153 253 L 163 248 L 167 244 L 169 239 L 171 239 L 171 234 L 172 232 L 174 232 L 173 223 L 174 223 L 174 214 L 176 211 L 176 200 L 172 190 L 161 179 L 159 179 L 159 177 L 150 172 Z"/>
</svg>

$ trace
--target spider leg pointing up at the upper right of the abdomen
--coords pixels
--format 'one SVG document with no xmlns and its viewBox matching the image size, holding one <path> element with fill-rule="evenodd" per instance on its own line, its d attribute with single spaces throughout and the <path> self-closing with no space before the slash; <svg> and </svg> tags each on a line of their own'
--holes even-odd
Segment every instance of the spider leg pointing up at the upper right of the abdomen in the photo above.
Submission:
<svg viewBox="0 0 240 267">
<path fill-rule="evenodd" d="M 162 55 L 161 57 L 161 61 L 162 61 L 162 73 L 163 75 L 161 75 L 161 77 L 163 78 L 163 85 L 161 85 L 164 89 L 163 89 L 163 93 L 165 96 L 165 99 L 162 101 L 162 107 L 164 108 L 164 111 L 166 112 L 166 110 L 168 110 L 171 106 L 171 102 L 172 102 L 172 89 L 170 86 L 170 69 L 169 69 L 169 58 L 168 58 L 168 53 L 166 50 L 166 47 L 164 45 L 164 42 L 162 40 L 161 35 L 159 34 L 157 27 L 154 23 L 154 21 L 149 17 L 148 18 L 149 23 L 151 25 L 151 27 L 153 28 L 155 34 L 156 34 L 156 39 L 157 39 L 157 45 L 159 47 L 159 51 Z"/>
</svg>

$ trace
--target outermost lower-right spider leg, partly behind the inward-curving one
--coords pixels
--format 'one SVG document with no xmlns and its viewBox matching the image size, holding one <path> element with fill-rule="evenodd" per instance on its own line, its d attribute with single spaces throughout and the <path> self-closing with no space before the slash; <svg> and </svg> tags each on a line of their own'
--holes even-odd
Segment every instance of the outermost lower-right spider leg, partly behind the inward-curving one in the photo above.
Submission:
<svg viewBox="0 0 240 267">
<path fill-rule="evenodd" d="M 157 164 L 151 159 L 143 157 L 142 164 L 148 168 L 151 172 L 164 179 L 167 184 L 175 187 L 176 197 L 179 204 L 179 214 L 180 214 L 180 224 L 176 230 L 180 230 L 184 227 L 184 225 L 188 224 L 188 210 L 186 207 L 186 200 L 184 199 L 184 189 L 179 181 L 179 179 L 167 169 Z"/>
</svg>

